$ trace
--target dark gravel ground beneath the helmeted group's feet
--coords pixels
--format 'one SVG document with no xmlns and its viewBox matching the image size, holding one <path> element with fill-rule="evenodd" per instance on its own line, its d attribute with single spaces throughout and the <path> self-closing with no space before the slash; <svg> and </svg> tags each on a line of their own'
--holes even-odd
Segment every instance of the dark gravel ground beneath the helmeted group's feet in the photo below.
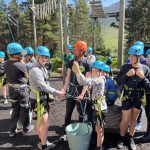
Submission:
<svg viewBox="0 0 150 150">
<path fill-rule="evenodd" d="M 61 78 L 52 78 L 51 84 L 53 87 L 60 89 L 62 87 Z M 16 137 L 9 138 L 9 124 L 11 104 L 4 105 L 3 99 L 0 100 L 0 150 L 37 150 L 38 136 L 34 129 L 26 136 L 21 134 L 21 131 L 17 133 Z M 55 100 L 50 103 L 50 127 L 48 133 L 49 141 L 53 141 L 57 144 L 56 150 L 69 150 L 67 142 L 59 142 L 59 137 L 63 134 L 64 128 L 64 116 L 65 116 L 65 101 Z M 78 118 L 76 110 L 73 113 L 72 120 L 76 121 Z M 150 150 L 150 143 L 140 143 L 139 137 L 146 130 L 146 118 L 143 114 L 142 130 L 136 133 L 137 150 Z M 33 119 L 32 124 L 36 121 Z M 96 136 L 92 137 L 92 143 L 89 150 L 94 150 Z M 105 134 L 105 149 L 115 150 L 118 134 L 107 133 Z M 128 149 L 128 143 L 125 143 L 123 150 Z"/>
</svg>

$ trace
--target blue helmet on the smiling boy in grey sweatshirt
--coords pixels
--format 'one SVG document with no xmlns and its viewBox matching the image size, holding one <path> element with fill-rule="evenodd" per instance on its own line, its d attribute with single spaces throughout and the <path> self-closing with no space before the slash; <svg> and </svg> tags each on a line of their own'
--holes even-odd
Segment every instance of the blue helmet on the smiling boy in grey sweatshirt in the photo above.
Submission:
<svg viewBox="0 0 150 150">
<path fill-rule="evenodd" d="M 46 46 L 38 46 L 36 51 L 35 51 L 36 55 L 39 56 L 48 56 L 50 57 L 50 51 Z"/>
</svg>

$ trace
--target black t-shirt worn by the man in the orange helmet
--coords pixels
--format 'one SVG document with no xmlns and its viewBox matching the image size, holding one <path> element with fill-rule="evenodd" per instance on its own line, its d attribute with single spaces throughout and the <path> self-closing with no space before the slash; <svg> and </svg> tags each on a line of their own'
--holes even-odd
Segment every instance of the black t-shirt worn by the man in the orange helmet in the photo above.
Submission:
<svg viewBox="0 0 150 150">
<path fill-rule="evenodd" d="M 69 87 L 69 94 L 73 94 L 75 92 L 75 88 L 77 88 L 79 94 L 82 91 L 83 86 L 79 86 L 79 83 L 77 81 L 76 75 L 72 71 L 72 66 L 73 66 L 73 60 L 70 60 L 68 62 L 68 68 L 71 69 L 71 77 L 70 77 L 70 87 Z M 80 71 L 82 74 L 86 74 L 86 72 L 90 72 L 90 65 L 87 63 L 86 59 L 83 59 L 82 61 L 78 62 Z"/>
</svg>

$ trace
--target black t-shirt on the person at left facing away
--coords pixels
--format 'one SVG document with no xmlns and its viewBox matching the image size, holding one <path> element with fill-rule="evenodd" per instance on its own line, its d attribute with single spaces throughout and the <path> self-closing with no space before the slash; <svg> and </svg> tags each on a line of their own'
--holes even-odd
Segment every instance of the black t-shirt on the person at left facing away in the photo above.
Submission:
<svg viewBox="0 0 150 150">
<path fill-rule="evenodd" d="M 26 65 L 13 60 L 7 60 L 4 63 L 4 71 L 6 78 L 10 84 L 24 84 L 27 83 L 25 73 L 27 73 Z"/>
</svg>

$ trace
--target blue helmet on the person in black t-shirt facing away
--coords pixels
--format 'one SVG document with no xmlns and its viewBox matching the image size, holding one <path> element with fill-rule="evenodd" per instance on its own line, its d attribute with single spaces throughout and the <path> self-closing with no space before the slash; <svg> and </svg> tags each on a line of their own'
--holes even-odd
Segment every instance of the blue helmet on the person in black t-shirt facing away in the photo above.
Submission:
<svg viewBox="0 0 150 150">
<path fill-rule="evenodd" d="M 7 45 L 8 54 L 19 54 L 22 53 L 23 47 L 19 43 L 10 43 Z"/>
</svg>

